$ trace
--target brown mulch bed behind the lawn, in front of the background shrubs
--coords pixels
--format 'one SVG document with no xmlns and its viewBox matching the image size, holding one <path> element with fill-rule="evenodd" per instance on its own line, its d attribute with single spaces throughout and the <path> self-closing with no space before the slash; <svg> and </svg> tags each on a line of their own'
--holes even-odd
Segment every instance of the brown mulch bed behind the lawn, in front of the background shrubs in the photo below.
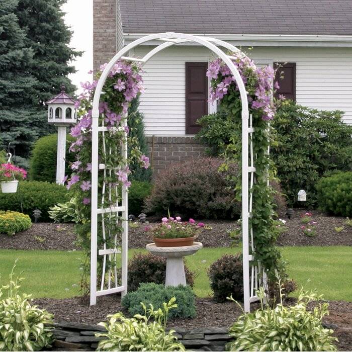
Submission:
<svg viewBox="0 0 352 352">
<path fill-rule="evenodd" d="M 304 210 L 298 210 L 291 219 L 285 218 L 288 231 L 280 236 L 278 245 L 352 245 L 352 226 L 344 224 L 345 218 L 326 216 L 317 211 L 312 212 L 312 220 L 317 222 L 317 236 L 306 236 L 301 230 L 301 214 L 304 212 Z M 224 220 L 204 220 L 203 222 L 209 228 L 203 230 L 198 237 L 198 241 L 202 242 L 204 247 L 229 247 L 231 245 L 229 232 L 238 228 L 237 222 Z M 153 224 L 156 223 L 150 223 L 150 225 Z M 137 224 L 137 227 L 134 225 L 129 227 L 129 248 L 143 248 L 151 242 L 149 234 L 144 230 L 145 226 L 145 224 Z M 335 227 L 340 226 L 343 226 L 343 230 L 336 232 Z M 12 237 L 0 234 L 0 248 L 3 249 L 79 249 L 74 241 L 72 224 L 38 223 L 33 224 L 29 230 L 19 232 Z"/>
</svg>

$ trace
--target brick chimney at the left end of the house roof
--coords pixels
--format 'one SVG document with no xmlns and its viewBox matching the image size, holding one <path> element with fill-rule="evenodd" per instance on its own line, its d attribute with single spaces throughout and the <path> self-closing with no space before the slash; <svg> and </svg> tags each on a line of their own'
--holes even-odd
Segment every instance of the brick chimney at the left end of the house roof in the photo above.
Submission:
<svg viewBox="0 0 352 352">
<path fill-rule="evenodd" d="M 93 0 L 93 66 L 116 54 L 116 0 Z"/>
</svg>

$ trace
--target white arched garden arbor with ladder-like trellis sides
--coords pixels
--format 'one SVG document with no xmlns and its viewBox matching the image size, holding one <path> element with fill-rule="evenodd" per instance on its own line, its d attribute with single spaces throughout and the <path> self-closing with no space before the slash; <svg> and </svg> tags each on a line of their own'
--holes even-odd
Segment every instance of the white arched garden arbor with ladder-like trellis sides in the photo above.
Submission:
<svg viewBox="0 0 352 352">
<path fill-rule="evenodd" d="M 128 57 L 129 51 L 134 49 L 140 44 L 149 42 L 149 41 L 160 41 L 161 44 L 150 50 L 143 58 L 134 58 Z M 113 289 L 101 290 L 97 292 L 97 225 L 98 225 L 98 214 L 102 214 L 101 209 L 98 208 L 98 134 L 99 132 L 104 132 L 104 128 L 99 127 L 99 103 L 101 95 L 104 94 L 103 87 L 105 81 L 109 75 L 109 72 L 113 69 L 113 66 L 120 59 L 137 61 L 140 62 L 141 65 L 146 63 L 150 58 L 152 58 L 159 51 L 168 48 L 173 45 L 194 42 L 198 43 L 204 47 L 207 47 L 211 50 L 215 55 L 217 55 L 223 62 L 228 66 L 231 71 L 232 76 L 234 77 L 236 84 L 239 89 L 240 99 L 242 104 L 242 243 L 243 243 L 243 283 L 244 283 L 244 309 L 245 311 L 249 311 L 250 302 L 254 302 L 256 298 L 253 296 L 253 270 L 251 276 L 251 287 L 250 287 L 250 278 L 249 278 L 249 260 L 251 260 L 251 256 L 249 255 L 249 228 L 248 228 L 248 218 L 249 218 L 249 209 L 251 209 L 251 197 L 248 197 L 248 172 L 251 172 L 251 186 L 253 180 L 253 172 L 254 167 L 252 164 L 252 155 L 251 155 L 251 166 L 248 167 L 248 135 L 253 132 L 253 128 L 250 125 L 248 126 L 249 120 L 249 109 L 248 109 L 248 99 L 247 92 L 245 89 L 244 82 L 239 74 L 239 71 L 232 60 L 236 59 L 231 55 L 225 53 L 219 47 L 223 47 L 230 52 L 240 53 L 243 56 L 246 56 L 235 46 L 211 37 L 200 37 L 190 34 L 184 33 L 158 33 L 151 34 L 139 38 L 132 43 L 125 46 L 121 49 L 107 64 L 105 69 L 103 70 L 101 77 L 96 86 L 94 100 L 93 100 L 93 110 L 92 110 L 92 219 L 91 219 L 91 304 L 96 304 L 97 296 L 114 293 L 114 292 L 122 292 L 122 294 L 127 292 L 127 231 L 128 231 L 128 211 L 127 211 L 127 189 L 123 188 L 122 190 L 122 206 L 117 207 L 112 210 L 115 212 L 121 212 L 122 218 L 124 220 L 124 233 L 122 234 L 122 248 L 121 248 L 121 257 L 122 257 L 122 286 L 115 287 Z M 126 142 L 122 146 L 122 152 L 125 154 L 127 159 L 127 138 Z M 252 234 L 251 234 L 252 235 Z M 252 243 L 251 243 L 252 244 Z M 259 270 L 259 268 L 258 268 Z M 255 288 L 257 288 L 257 272 L 255 272 Z M 250 294 L 250 292 L 252 294 Z"/>
</svg>

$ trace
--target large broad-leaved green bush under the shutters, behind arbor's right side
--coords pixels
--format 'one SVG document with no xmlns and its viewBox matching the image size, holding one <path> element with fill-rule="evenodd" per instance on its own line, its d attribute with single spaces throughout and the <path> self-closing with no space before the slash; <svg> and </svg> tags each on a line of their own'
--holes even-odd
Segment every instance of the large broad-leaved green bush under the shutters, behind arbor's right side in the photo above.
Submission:
<svg viewBox="0 0 352 352">
<path fill-rule="evenodd" d="M 352 126 L 343 123 L 341 111 L 319 111 L 288 100 L 281 103 L 271 123 L 276 141 L 270 153 L 278 169 L 290 206 L 297 193 L 307 192 L 308 206 L 316 205 L 315 184 L 328 170 L 347 171 L 352 161 Z M 199 140 L 211 155 L 221 155 L 233 136 L 234 122 L 220 112 L 200 120 Z"/>
</svg>

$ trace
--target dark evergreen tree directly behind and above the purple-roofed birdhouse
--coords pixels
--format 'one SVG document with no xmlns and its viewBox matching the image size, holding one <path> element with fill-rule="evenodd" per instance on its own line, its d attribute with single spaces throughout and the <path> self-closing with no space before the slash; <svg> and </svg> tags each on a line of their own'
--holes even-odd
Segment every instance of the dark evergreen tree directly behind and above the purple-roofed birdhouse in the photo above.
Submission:
<svg viewBox="0 0 352 352">
<path fill-rule="evenodd" d="M 26 28 L 26 43 L 34 51 L 31 73 L 37 78 L 35 89 L 40 108 L 60 92 L 62 84 L 69 95 L 75 91 L 67 75 L 75 72 L 69 62 L 81 52 L 68 46 L 72 33 L 60 9 L 64 3 L 66 0 L 19 0 L 18 4 L 20 26 Z"/>
</svg>

